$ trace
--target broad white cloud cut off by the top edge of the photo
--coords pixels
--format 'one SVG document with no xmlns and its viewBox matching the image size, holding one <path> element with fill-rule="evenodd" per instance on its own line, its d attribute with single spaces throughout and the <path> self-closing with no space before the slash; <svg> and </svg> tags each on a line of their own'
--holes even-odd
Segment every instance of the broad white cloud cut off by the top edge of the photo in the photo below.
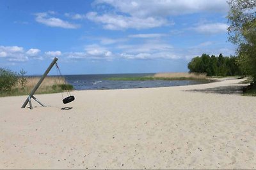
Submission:
<svg viewBox="0 0 256 170">
<path fill-rule="evenodd" d="M 224 13 L 228 11 L 228 4 L 224 0 L 97 0 L 96 5 L 109 4 L 116 11 L 128 13 L 136 17 L 166 17 L 199 13 L 202 11 Z"/>
</svg>

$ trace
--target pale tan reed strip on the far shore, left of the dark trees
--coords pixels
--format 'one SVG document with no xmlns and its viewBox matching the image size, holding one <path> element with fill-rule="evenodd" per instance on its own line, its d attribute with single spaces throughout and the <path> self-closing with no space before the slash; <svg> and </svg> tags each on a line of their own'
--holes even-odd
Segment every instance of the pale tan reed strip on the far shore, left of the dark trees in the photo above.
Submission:
<svg viewBox="0 0 256 170">
<path fill-rule="evenodd" d="M 156 73 L 154 78 L 192 78 L 197 80 L 204 80 L 207 78 L 206 74 L 196 73 Z"/>
</svg>

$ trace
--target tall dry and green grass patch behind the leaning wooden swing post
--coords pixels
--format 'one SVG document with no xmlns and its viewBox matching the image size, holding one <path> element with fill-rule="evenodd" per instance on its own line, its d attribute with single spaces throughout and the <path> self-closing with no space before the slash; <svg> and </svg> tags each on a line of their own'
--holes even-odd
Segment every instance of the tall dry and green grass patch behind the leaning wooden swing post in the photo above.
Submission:
<svg viewBox="0 0 256 170">
<path fill-rule="evenodd" d="M 31 90 L 35 87 L 36 83 L 40 80 L 40 77 L 26 77 L 28 83 L 24 87 L 18 83 L 15 87 L 8 91 L 0 91 L 0 97 L 6 96 L 22 96 L 29 95 Z M 65 84 L 64 84 L 65 83 Z M 64 78 L 57 76 L 46 77 L 40 87 L 36 90 L 35 94 L 52 94 L 59 93 L 65 90 L 73 90 L 73 86 L 67 84 Z"/>
</svg>

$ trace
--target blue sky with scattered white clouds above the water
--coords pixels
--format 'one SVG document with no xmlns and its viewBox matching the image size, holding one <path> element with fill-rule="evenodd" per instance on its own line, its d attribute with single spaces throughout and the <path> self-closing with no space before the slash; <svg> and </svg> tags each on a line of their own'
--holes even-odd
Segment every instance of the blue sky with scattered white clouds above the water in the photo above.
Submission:
<svg viewBox="0 0 256 170">
<path fill-rule="evenodd" d="M 0 67 L 43 74 L 187 72 L 234 55 L 225 0 L 1 0 Z M 50 74 L 57 74 L 52 69 Z"/>
</svg>

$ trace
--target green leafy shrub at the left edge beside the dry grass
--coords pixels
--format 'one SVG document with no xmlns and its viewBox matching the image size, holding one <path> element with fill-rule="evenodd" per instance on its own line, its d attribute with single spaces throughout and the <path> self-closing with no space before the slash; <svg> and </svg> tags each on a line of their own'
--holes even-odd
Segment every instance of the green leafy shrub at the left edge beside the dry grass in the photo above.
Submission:
<svg viewBox="0 0 256 170">
<path fill-rule="evenodd" d="M 12 90 L 18 83 L 18 74 L 10 69 L 0 68 L 0 91 Z"/>
</svg>

